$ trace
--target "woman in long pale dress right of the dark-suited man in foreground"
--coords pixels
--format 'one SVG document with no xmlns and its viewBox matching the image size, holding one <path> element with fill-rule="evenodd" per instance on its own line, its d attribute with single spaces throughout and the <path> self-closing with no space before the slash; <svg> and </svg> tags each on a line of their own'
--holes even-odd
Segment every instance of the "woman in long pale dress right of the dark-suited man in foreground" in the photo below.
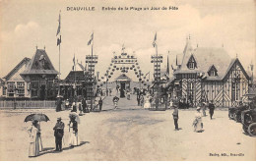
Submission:
<svg viewBox="0 0 256 164">
<path fill-rule="evenodd" d="M 78 122 L 76 121 L 76 118 L 72 117 L 69 124 L 70 128 L 70 140 L 69 145 L 70 146 L 77 146 L 80 144 L 79 137 L 78 137 Z"/>
</svg>

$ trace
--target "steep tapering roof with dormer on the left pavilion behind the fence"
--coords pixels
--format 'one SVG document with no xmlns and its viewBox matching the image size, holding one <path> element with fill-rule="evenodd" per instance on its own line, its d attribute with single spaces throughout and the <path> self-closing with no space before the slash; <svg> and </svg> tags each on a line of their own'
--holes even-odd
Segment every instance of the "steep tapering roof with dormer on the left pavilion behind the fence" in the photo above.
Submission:
<svg viewBox="0 0 256 164">
<path fill-rule="evenodd" d="M 31 62 L 21 75 L 57 75 L 48 55 L 44 49 L 36 49 Z"/>
</svg>

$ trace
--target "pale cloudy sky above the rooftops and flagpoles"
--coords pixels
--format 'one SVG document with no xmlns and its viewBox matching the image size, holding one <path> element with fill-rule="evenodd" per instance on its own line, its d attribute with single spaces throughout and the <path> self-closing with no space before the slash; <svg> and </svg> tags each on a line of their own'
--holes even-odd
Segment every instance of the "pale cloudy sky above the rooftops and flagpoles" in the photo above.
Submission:
<svg viewBox="0 0 256 164">
<path fill-rule="evenodd" d="M 102 7 L 169 7 L 166 11 L 102 11 Z M 96 11 L 67 11 L 67 7 L 95 7 Z M 94 53 L 98 55 L 99 77 L 109 67 L 113 52 L 135 53 L 143 73 L 153 74 L 151 55 L 155 33 L 161 68 L 182 53 L 186 37 L 193 47 L 222 47 L 231 58 L 236 55 L 245 70 L 256 65 L 256 2 L 253 0 L 0 0 L 0 78 L 23 58 L 32 56 L 36 46 L 45 46 L 58 71 L 56 31 L 61 10 L 61 79 L 72 69 L 73 57 L 85 65 L 91 54 L 88 41 L 94 32 Z M 181 60 L 181 59 L 180 59 Z M 254 67 L 254 73 L 255 73 Z M 119 72 L 120 73 L 120 72 Z M 114 74 L 110 81 L 120 74 Z M 135 76 L 128 73 L 135 79 Z M 151 75 L 151 77 L 153 77 Z"/>
</svg>

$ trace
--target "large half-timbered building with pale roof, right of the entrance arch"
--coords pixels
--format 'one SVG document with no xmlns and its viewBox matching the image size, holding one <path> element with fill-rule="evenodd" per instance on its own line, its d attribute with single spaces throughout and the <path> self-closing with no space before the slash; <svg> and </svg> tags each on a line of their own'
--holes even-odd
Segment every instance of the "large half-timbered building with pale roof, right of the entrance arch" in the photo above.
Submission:
<svg viewBox="0 0 256 164">
<path fill-rule="evenodd" d="M 172 97 L 192 106 L 213 100 L 216 106 L 237 106 L 248 92 L 250 77 L 238 58 L 231 59 L 224 47 L 192 48 L 187 39 L 181 63 L 170 78 Z"/>
</svg>

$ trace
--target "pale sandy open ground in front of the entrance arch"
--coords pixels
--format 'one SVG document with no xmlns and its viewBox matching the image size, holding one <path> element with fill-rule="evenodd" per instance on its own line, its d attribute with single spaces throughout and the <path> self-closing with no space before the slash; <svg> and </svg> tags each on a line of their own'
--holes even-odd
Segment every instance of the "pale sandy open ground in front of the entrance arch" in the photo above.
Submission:
<svg viewBox="0 0 256 164">
<path fill-rule="evenodd" d="M 65 127 L 62 152 L 53 151 L 52 128 L 57 117 L 62 117 L 67 125 L 69 111 L 0 111 L 0 160 L 256 160 L 256 138 L 244 135 L 241 124 L 228 120 L 226 110 L 216 110 L 214 120 L 209 116 L 203 118 L 205 132 L 198 134 L 192 128 L 194 109 L 179 111 L 181 130 L 174 131 L 172 110 L 144 110 L 136 105 L 135 96 L 130 101 L 120 99 L 119 108 L 112 110 L 111 99 L 104 99 L 103 111 L 81 117 L 80 146 L 68 146 L 68 127 Z M 46 114 L 50 121 L 41 123 L 44 151 L 38 157 L 29 158 L 26 129 L 31 123 L 24 123 L 24 119 L 34 112 Z"/>
</svg>

